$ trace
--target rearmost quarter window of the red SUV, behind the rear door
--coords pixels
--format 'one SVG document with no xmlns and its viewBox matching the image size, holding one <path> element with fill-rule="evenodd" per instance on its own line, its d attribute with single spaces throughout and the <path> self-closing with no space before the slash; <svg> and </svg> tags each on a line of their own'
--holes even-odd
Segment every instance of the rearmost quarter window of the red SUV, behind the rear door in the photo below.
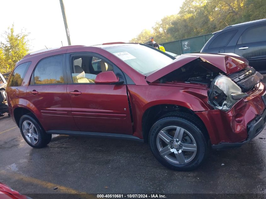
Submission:
<svg viewBox="0 0 266 199">
<path fill-rule="evenodd" d="M 21 86 L 22 81 L 30 65 L 31 62 L 25 62 L 23 64 L 18 65 L 10 76 L 8 86 Z"/>
</svg>

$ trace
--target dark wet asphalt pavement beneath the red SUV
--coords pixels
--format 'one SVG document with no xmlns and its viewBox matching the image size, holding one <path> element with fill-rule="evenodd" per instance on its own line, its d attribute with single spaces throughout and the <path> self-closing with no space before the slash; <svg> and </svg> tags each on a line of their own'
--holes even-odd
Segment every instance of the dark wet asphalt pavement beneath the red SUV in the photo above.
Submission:
<svg viewBox="0 0 266 199">
<path fill-rule="evenodd" d="M 0 118 L 0 182 L 25 195 L 51 198 L 55 193 L 266 194 L 266 130 L 241 148 L 211 151 L 195 171 L 178 172 L 157 162 L 148 144 L 135 141 L 53 135 L 47 147 L 31 148 L 6 114 Z"/>
</svg>

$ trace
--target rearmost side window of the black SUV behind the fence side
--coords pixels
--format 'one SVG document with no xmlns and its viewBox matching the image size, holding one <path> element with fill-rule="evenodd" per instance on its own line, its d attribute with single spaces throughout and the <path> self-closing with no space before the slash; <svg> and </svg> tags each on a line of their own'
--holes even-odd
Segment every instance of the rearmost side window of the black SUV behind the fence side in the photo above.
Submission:
<svg viewBox="0 0 266 199">
<path fill-rule="evenodd" d="M 225 47 L 228 45 L 228 43 L 231 41 L 233 36 L 235 36 L 235 33 L 237 30 L 232 30 L 228 32 L 224 32 L 220 35 L 218 35 L 210 44 L 209 48 L 219 48 L 219 47 Z"/>
</svg>

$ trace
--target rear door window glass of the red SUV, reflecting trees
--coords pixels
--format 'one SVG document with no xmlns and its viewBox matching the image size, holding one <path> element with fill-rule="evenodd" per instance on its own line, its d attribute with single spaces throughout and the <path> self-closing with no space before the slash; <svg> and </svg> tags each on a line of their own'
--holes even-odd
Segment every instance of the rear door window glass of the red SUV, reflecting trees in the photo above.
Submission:
<svg viewBox="0 0 266 199">
<path fill-rule="evenodd" d="M 42 59 L 37 64 L 32 77 L 32 84 L 63 84 L 64 55 Z"/>
</svg>

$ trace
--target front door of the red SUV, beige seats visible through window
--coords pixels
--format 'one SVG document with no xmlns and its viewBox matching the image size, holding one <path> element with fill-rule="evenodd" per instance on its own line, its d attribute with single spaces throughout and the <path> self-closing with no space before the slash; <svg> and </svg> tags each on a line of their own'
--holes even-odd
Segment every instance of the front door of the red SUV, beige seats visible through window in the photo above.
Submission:
<svg viewBox="0 0 266 199">
<path fill-rule="evenodd" d="M 71 113 L 80 131 L 132 135 L 127 85 L 97 85 L 96 75 L 120 69 L 93 53 L 70 54 L 67 95 Z"/>
</svg>

